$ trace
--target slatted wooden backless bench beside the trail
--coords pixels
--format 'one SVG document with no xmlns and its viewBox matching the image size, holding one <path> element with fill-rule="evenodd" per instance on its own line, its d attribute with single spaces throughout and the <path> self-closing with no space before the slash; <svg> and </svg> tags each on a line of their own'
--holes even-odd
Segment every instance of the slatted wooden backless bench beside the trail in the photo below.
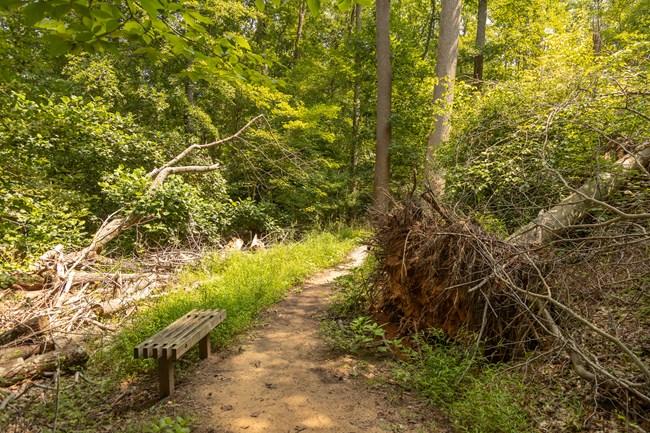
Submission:
<svg viewBox="0 0 650 433">
<path fill-rule="evenodd" d="M 136 346 L 135 358 L 158 360 L 160 397 L 174 392 L 174 361 L 199 343 L 199 357 L 210 354 L 210 331 L 226 318 L 225 310 L 192 310 L 165 329 Z"/>
</svg>

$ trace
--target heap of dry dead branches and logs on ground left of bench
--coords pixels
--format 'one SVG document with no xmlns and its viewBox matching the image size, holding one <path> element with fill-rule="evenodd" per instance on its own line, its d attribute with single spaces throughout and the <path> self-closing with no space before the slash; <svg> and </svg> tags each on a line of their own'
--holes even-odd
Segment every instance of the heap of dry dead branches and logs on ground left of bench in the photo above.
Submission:
<svg viewBox="0 0 650 433">
<path fill-rule="evenodd" d="M 52 263 L 44 260 L 40 281 L 15 283 L 2 292 L 1 385 L 52 372 L 59 362 L 64 367 L 84 363 L 86 337 L 114 332 L 138 301 L 158 296 L 175 270 L 195 263 L 198 255 L 151 254 L 142 263 L 95 257 L 99 260 L 70 270 L 57 263 L 65 255 L 54 255 L 47 259 Z"/>
</svg>

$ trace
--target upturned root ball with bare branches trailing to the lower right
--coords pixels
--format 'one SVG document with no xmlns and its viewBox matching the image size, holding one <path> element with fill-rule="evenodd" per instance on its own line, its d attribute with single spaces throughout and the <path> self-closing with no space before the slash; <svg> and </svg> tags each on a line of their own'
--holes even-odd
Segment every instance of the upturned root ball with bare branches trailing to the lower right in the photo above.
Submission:
<svg viewBox="0 0 650 433">
<path fill-rule="evenodd" d="M 624 390 L 650 407 L 647 353 L 643 358 L 643 348 L 630 347 L 559 295 L 546 269 L 557 265 L 552 252 L 501 240 L 430 193 L 422 197 L 378 219 L 378 309 L 404 332 L 434 327 L 477 339 L 497 359 L 563 353 L 595 388 Z M 614 353 L 598 352 L 605 347 Z"/>
</svg>

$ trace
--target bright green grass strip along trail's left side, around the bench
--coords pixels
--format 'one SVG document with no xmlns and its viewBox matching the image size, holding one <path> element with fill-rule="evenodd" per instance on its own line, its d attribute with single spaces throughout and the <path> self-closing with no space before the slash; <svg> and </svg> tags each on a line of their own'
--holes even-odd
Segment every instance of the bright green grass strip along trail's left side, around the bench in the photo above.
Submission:
<svg viewBox="0 0 650 433">
<path fill-rule="evenodd" d="M 0 411 L 0 431 L 187 431 L 191 420 L 188 424 L 187 419 L 173 418 L 177 414 L 169 413 L 174 410 L 169 404 L 133 411 L 129 403 L 120 403 L 128 394 L 124 385 L 155 369 L 151 360 L 134 360 L 133 347 L 195 308 L 227 311 L 226 320 L 211 335 L 213 345 L 226 345 L 289 289 L 341 262 L 360 235 L 343 229 L 257 252 L 214 253 L 186 270 L 176 289 L 140 305 L 114 339 L 95 342 L 96 351 L 79 376 L 83 380 L 63 376 L 60 392 L 46 388 L 42 395 L 25 395 Z M 197 352 L 193 349 L 178 364 L 191 365 Z M 129 421 L 116 423 L 115 417 Z"/>
</svg>

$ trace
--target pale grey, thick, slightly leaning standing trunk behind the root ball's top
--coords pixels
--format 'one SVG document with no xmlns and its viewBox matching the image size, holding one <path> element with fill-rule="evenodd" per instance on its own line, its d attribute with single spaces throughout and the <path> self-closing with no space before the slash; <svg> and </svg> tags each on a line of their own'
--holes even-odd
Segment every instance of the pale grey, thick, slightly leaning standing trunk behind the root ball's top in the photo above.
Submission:
<svg viewBox="0 0 650 433">
<path fill-rule="evenodd" d="M 434 155 L 440 145 L 449 137 L 449 118 L 454 102 L 461 6 L 461 0 L 442 0 L 440 8 L 440 36 L 438 37 L 438 54 L 436 55 L 437 82 L 433 88 L 435 125 L 433 132 L 429 135 L 424 165 L 425 181 L 437 194 L 444 191 L 444 177 L 443 173 L 434 172 Z"/>
</svg>

